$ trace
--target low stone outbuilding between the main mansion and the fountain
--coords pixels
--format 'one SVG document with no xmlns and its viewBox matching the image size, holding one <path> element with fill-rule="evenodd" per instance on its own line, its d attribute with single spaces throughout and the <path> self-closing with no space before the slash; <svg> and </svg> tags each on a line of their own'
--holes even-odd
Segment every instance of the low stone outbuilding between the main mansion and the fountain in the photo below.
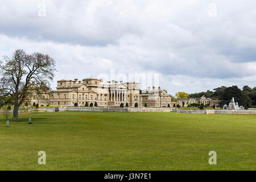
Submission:
<svg viewBox="0 0 256 182">
<path fill-rule="evenodd" d="M 188 106 L 189 104 L 204 104 L 204 105 L 216 105 L 218 106 L 220 104 L 220 101 L 218 100 L 211 100 L 210 98 L 207 98 L 205 96 L 202 96 L 200 98 L 177 98 L 177 104 L 180 106 Z"/>
</svg>

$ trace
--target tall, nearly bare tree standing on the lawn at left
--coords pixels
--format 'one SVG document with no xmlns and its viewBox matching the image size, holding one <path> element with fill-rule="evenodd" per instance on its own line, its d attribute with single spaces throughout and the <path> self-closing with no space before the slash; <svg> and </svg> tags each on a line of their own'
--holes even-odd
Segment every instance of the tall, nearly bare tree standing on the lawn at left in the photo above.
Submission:
<svg viewBox="0 0 256 182">
<path fill-rule="evenodd" d="M 5 56 L 3 62 L 5 64 L 0 65 L 0 96 L 13 98 L 13 120 L 18 121 L 19 106 L 30 94 L 30 82 L 49 87 L 56 71 L 55 61 L 42 53 L 28 55 L 23 50 L 16 50 L 13 57 Z"/>
</svg>

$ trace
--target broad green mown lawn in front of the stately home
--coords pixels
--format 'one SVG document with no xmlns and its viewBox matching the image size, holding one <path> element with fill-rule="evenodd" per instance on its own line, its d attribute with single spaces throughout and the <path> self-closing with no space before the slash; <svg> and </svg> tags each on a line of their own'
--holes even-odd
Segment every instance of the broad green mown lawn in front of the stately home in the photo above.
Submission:
<svg viewBox="0 0 256 182">
<path fill-rule="evenodd" d="M 256 115 L 183 113 L 0 115 L 0 170 L 255 170 Z M 27 125 L 32 118 L 33 125 Z M 38 164 L 45 151 L 46 165 Z M 209 165 L 209 151 L 217 165 Z"/>
</svg>

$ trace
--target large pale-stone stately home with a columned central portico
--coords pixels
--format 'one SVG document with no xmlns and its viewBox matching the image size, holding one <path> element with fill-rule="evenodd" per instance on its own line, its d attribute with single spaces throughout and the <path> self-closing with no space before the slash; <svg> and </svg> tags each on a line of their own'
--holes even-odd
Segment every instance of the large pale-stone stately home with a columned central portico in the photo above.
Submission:
<svg viewBox="0 0 256 182">
<path fill-rule="evenodd" d="M 39 96 L 40 95 L 40 96 Z M 168 107 L 174 106 L 176 102 L 171 102 L 171 96 L 167 90 L 160 87 L 152 90 L 142 91 L 140 94 L 138 82 L 108 81 L 103 82 L 101 79 L 88 77 L 79 81 L 59 80 L 57 88 L 48 93 L 32 93 L 29 99 L 31 105 L 39 106 L 124 106 L 134 107 Z M 97 104 L 96 104 L 97 103 Z"/>
</svg>

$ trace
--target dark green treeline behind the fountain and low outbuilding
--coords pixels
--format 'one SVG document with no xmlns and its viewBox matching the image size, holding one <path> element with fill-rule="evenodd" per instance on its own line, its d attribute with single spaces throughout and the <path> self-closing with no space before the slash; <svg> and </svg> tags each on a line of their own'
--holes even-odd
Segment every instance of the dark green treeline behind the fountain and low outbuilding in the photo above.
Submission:
<svg viewBox="0 0 256 182">
<path fill-rule="evenodd" d="M 251 107 L 256 105 L 256 86 L 250 88 L 250 86 L 243 86 L 242 90 L 238 86 L 221 86 L 213 89 L 214 91 L 207 90 L 207 92 L 191 93 L 189 97 L 199 98 L 206 96 L 212 100 L 221 100 L 221 105 L 228 104 L 232 97 L 235 102 L 244 107 Z"/>
</svg>

